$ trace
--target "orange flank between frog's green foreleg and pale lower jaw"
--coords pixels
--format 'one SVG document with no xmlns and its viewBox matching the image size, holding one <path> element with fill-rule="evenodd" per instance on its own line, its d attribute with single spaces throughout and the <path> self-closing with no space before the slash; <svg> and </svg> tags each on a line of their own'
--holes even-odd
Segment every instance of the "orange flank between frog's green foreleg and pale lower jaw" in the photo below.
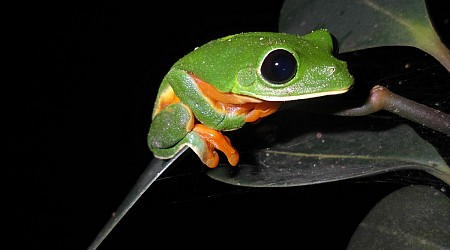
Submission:
<svg viewBox="0 0 450 250">
<path fill-rule="evenodd" d="M 219 112 L 235 115 L 244 114 L 245 122 L 255 122 L 260 118 L 273 114 L 280 108 L 282 103 L 264 101 L 233 93 L 223 93 L 194 74 L 191 73 L 190 76 L 197 83 L 204 96 L 210 100 L 213 107 Z"/>
</svg>

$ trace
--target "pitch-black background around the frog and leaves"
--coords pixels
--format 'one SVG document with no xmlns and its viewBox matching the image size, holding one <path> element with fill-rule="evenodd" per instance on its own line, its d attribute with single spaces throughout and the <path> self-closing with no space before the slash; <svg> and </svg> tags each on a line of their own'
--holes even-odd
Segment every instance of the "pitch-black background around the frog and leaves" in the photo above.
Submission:
<svg viewBox="0 0 450 250">
<path fill-rule="evenodd" d="M 12 249 L 85 249 L 152 158 L 146 134 L 156 90 L 170 66 L 221 36 L 277 31 L 282 3 L 4 5 L 2 238 Z M 448 39 L 448 9 L 438 6 L 432 13 Z M 399 75 L 381 63 L 393 51 L 346 58 L 355 62 L 350 65 L 355 73 L 375 65 L 371 76 L 383 72 L 388 78 Z M 423 64 L 418 50 L 394 53 L 388 57 L 391 65 L 405 55 Z M 448 72 L 425 58 L 448 81 Z M 448 87 L 439 91 L 449 92 Z M 405 185 L 362 181 L 237 188 L 209 179 L 195 156 L 183 163 L 144 194 L 100 249 L 242 243 L 342 249 L 370 208 Z"/>
</svg>

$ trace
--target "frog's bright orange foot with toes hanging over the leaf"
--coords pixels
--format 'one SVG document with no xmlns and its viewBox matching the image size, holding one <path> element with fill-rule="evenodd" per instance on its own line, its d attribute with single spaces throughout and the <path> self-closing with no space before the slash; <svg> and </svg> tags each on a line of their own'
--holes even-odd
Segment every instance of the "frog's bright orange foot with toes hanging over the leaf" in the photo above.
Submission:
<svg viewBox="0 0 450 250">
<path fill-rule="evenodd" d="M 195 131 L 207 144 L 210 155 L 215 159 L 210 159 L 208 161 L 208 167 L 215 168 L 219 163 L 218 155 L 214 152 L 215 149 L 222 151 L 228 159 L 228 162 L 232 166 L 236 166 L 239 162 L 239 153 L 231 145 L 230 139 L 223 135 L 221 132 L 208 128 L 203 124 L 196 124 L 193 128 Z"/>
</svg>

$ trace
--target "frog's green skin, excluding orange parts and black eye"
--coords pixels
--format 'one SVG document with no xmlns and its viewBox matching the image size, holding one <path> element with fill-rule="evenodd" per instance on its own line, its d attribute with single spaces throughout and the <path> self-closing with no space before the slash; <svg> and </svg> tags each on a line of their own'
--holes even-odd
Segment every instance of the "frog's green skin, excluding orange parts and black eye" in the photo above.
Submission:
<svg viewBox="0 0 450 250">
<path fill-rule="evenodd" d="M 275 49 L 296 59 L 296 73 L 283 83 L 273 83 L 261 73 L 261 65 Z M 304 36 L 251 32 L 227 36 L 196 48 L 176 62 L 164 77 L 157 95 L 172 89 L 180 102 L 158 109 L 155 105 L 148 144 L 155 157 L 167 159 L 189 146 L 205 162 L 207 143 L 192 123 L 216 131 L 241 128 L 245 115 L 217 109 L 198 88 L 190 73 L 223 93 L 264 101 L 292 101 L 346 92 L 353 84 L 347 64 L 333 54 L 331 35 L 316 30 Z"/>
</svg>

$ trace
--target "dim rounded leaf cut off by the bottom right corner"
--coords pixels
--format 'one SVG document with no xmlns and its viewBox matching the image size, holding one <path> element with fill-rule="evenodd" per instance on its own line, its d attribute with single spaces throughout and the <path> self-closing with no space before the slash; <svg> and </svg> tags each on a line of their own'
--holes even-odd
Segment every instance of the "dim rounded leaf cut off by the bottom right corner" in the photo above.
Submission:
<svg viewBox="0 0 450 250">
<path fill-rule="evenodd" d="M 419 185 L 401 188 L 375 205 L 347 249 L 449 248 L 450 199 Z"/>
</svg>

